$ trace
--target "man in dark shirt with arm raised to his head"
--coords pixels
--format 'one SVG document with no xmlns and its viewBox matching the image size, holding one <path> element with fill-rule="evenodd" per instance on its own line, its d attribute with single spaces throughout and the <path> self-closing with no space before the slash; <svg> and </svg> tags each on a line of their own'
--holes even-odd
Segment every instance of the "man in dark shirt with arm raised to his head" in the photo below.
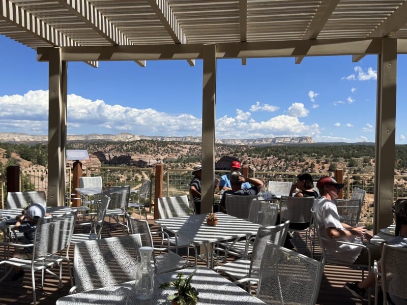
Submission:
<svg viewBox="0 0 407 305">
<path fill-rule="evenodd" d="M 253 186 L 249 189 L 242 189 L 242 184 L 245 182 L 251 183 Z M 223 193 L 222 199 L 220 200 L 220 206 L 223 211 L 226 210 L 226 194 L 232 195 L 257 195 L 261 188 L 264 186 L 264 182 L 256 178 L 248 178 L 243 176 L 240 172 L 234 171 L 230 174 L 230 185 L 231 190 L 227 190 Z"/>
</svg>

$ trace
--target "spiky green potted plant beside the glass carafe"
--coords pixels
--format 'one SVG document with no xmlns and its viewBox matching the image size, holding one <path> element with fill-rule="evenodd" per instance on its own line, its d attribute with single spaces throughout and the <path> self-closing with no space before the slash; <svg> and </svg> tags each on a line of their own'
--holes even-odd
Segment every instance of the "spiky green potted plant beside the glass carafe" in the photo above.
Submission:
<svg viewBox="0 0 407 305">
<path fill-rule="evenodd" d="M 170 286 L 177 289 L 178 292 L 167 296 L 167 300 L 171 301 L 173 305 L 195 305 L 198 301 L 199 292 L 195 288 L 191 287 L 191 279 L 195 274 L 195 269 L 189 277 L 184 277 L 184 273 L 179 272 L 177 279 L 172 282 L 167 282 L 160 285 L 161 289 L 168 288 Z"/>
</svg>

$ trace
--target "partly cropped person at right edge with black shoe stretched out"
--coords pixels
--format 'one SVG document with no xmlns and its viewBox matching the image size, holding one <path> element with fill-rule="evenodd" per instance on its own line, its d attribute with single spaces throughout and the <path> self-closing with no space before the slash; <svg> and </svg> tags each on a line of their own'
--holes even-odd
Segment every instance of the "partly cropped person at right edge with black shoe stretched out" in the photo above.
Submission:
<svg viewBox="0 0 407 305">
<path fill-rule="evenodd" d="M 396 237 L 383 243 L 389 243 L 402 248 L 407 248 L 407 199 L 398 199 L 394 205 L 394 215 L 396 220 Z M 382 243 L 382 245 L 383 245 Z M 383 246 L 380 245 L 380 252 Z M 377 261 L 377 269 L 381 272 L 381 261 Z M 373 269 L 370 269 L 369 275 L 362 282 L 346 283 L 345 288 L 354 296 L 364 299 L 366 289 L 375 285 L 375 274 Z M 394 304 L 407 304 L 407 300 L 398 296 L 389 294 L 390 301 Z"/>
</svg>

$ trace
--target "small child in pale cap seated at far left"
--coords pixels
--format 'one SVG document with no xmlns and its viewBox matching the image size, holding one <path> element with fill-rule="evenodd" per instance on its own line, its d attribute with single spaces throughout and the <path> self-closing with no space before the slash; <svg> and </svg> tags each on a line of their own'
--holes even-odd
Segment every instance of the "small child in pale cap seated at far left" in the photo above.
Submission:
<svg viewBox="0 0 407 305">
<path fill-rule="evenodd" d="M 46 207 L 41 203 L 33 203 L 24 211 L 24 214 L 18 218 L 15 229 L 24 235 L 24 243 L 34 243 L 34 233 L 37 227 L 38 219 L 49 216 L 46 214 Z M 13 257 L 31 260 L 33 257 L 33 247 L 24 247 L 13 253 Z M 24 270 L 15 268 L 11 276 L 11 281 L 16 281 L 24 276 Z"/>
</svg>

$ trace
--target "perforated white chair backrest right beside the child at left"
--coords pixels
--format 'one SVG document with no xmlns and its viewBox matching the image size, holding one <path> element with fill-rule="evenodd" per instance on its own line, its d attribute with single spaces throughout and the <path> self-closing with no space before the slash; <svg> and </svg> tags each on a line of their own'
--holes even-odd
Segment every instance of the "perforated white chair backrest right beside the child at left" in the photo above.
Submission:
<svg viewBox="0 0 407 305">
<path fill-rule="evenodd" d="M 39 259 L 60 252 L 69 251 L 75 228 L 77 210 L 59 216 L 40 218 L 34 233 L 33 259 Z"/>
</svg>

